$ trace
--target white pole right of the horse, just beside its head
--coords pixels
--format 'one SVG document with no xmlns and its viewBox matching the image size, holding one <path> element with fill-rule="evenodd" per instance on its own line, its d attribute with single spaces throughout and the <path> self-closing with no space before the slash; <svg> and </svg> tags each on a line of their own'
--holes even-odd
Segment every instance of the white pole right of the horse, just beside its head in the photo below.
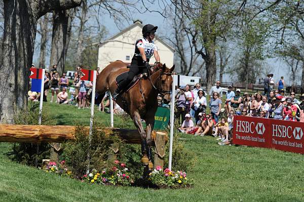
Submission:
<svg viewBox="0 0 304 202">
<path fill-rule="evenodd" d="M 170 146 L 169 146 L 169 170 L 172 168 L 172 147 L 173 147 L 173 132 L 174 132 L 174 105 L 175 105 L 175 85 L 177 83 L 177 75 L 173 75 L 171 107 L 170 107 Z"/>
</svg>

